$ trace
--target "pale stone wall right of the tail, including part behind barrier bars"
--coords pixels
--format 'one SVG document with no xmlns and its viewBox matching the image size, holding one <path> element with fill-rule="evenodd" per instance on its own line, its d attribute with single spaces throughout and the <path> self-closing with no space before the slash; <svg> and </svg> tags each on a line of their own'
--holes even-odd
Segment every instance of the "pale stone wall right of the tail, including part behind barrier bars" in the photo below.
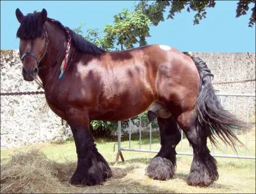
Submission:
<svg viewBox="0 0 256 194">
<path fill-rule="evenodd" d="M 255 94 L 255 81 L 233 84 L 214 84 L 217 82 L 236 82 L 255 80 L 255 53 L 221 53 L 193 52 L 192 56 L 200 57 L 214 75 L 214 89 L 220 93 Z M 255 122 L 255 97 L 247 98 L 221 97 L 223 106 L 236 114 L 243 121 Z M 237 101 L 237 107 L 236 107 Z"/>
</svg>

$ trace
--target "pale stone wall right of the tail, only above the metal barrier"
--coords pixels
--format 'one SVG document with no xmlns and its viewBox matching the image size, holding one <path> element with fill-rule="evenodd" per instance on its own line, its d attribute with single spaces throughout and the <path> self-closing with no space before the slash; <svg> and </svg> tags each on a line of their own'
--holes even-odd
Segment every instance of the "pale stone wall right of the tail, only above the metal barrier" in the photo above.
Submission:
<svg viewBox="0 0 256 194">
<path fill-rule="evenodd" d="M 213 83 L 255 79 L 255 53 L 193 52 L 214 75 Z M 214 88 L 225 93 L 255 94 L 255 82 L 221 84 Z"/>
</svg>

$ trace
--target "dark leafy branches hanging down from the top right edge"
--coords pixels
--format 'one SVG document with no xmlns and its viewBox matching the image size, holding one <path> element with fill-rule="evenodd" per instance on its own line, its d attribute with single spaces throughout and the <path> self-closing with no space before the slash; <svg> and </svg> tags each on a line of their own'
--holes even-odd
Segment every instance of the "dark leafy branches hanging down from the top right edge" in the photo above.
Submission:
<svg viewBox="0 0 256 194">
<path fill-rule="evenodd" d="M 199 21 L 206 18 L 207 8 L 214 8 L 216 4 L 215 0 L 157 0 L 157 1 L 140 1 L 135 7 L 135 10 L 141 10 L 148 16 L 150 21 L 157 26 L 159 22 L 164 20 L 164 12 L 168 10 L 167 19 L 174 19 L 176 13 L 180 13 L 182 10 L 190 12 L 196 11 L 194 16 L 194 25 L 199 24 Z M 255 0 L 239 0 L 236 8 L 236 17 L 246 15 L 249 10 L 249 4 L 253 4 L 252 15 L 249 19 L 248 26 L 252 27 L 255 24 Z"/>
</svg>

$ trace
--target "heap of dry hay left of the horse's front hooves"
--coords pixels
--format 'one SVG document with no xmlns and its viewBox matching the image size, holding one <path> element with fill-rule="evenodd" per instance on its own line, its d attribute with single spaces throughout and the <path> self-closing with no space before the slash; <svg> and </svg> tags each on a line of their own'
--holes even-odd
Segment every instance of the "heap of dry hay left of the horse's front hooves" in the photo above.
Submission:
<svg viewBox="0 0 256 194">
<path fill-rule="evenodd" d="M 61 193 L 61 181 L 75 168 L 75 163 L 56 163 L 35 149 L 13 155 L 1 164 L 1 193 Z"/>
</svg>

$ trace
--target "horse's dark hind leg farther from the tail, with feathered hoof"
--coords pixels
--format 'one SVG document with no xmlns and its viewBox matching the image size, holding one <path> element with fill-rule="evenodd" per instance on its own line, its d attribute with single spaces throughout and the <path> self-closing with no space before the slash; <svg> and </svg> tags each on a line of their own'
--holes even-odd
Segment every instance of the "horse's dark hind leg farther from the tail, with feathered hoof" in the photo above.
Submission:
<svg viewBox="0 0 256 194">
<path fill-rule="evenodd" d="M 157 118 L 161 137 L 161 149 L 150 161 L 146 175 L 152 179 L 167 180 L 173 177 L 176 168 L 175 147 L 179 144 L 181 135 L 173 116 Z"/>
</svg>

